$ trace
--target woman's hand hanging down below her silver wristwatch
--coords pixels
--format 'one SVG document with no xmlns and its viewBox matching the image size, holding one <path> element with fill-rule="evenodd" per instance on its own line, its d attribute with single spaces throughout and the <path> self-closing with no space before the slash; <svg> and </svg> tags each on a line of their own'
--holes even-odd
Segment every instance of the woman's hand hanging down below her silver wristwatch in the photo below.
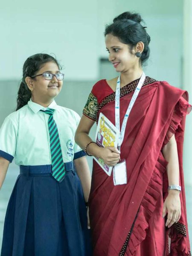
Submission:
<svg viewBox="0 0 192 256">
<path fill-rule="evenodd" d="M 171 227 L 175 222 L 179 221 L 181 210 L 180 210 L 180 191 L 175 189 L 169 190 L 169 194 L 163 205 L 163 218 L 168 212 L 166 227 Z"/>
</svg>

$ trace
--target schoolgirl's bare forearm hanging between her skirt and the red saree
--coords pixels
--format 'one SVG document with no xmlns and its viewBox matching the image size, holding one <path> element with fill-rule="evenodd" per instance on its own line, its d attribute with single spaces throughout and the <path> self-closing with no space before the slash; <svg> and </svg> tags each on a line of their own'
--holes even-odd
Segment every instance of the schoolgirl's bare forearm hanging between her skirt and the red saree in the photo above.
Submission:
<svg viewBox="0 0 192 256">
<path fill-rule="evenodd" d="M 90 193 L 91 176 L 90 176 L 87 159 L 86 157 L 79 157 L 78 159 L 74 160 L 74 163 L 76 166 L 77 175 L 81 180 L 84 200 L 85 202 L 88 202 L 89 193 Z"/>
</svg>

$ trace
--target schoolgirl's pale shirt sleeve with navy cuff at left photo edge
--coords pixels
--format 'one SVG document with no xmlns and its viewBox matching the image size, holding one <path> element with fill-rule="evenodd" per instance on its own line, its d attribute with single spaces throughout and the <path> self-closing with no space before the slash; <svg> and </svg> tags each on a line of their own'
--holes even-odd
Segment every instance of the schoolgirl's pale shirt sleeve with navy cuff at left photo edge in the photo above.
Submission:
<svg viewBox="0 0 192 256">
<path fill-rule="evenodd" d="M 7 116 L 0 128 L 0 157 L 10 163 L 15 157 L 18 125 Z"/>
</svg>

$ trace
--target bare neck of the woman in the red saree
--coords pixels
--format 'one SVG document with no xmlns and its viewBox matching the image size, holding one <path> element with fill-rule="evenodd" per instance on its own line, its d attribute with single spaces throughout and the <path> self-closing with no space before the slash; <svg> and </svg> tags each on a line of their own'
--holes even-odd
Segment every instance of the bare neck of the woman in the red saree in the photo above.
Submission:
<svg viewBox="0 0 192 256">
<path fill-rule="evenodd" d="M 136 79 L 140 79 L 140 77 L 142 76 L 143 73 L 143 69 L 142 67 L 138 67 L 137 69 L 130 69 L 124 73 L 120 74 L 120 78 L 121 78 L 121 87 L 131 83 L 132 81 L 136 80 Z"/>
</svg>

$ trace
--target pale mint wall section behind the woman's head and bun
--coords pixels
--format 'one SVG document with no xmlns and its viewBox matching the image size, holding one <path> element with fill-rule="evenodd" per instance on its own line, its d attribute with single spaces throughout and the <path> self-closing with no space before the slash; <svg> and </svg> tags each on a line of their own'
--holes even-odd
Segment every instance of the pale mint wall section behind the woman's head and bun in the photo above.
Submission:
<svg viewBox="0 0 192 256">
<path fill-rule="evenodd" d="M 183 55 L 183 3 L 182 0 L 161 1 L 105 1 L 100 2 L 99 54 L 108 57 L 105 48 L 105 25 L 125 11 L 139 12 L 151 36 L 151 53 L 145 67 L 145 73 L 157 80 L 166 80 L 170 84 L 182 87 Z"/>
</svg>

